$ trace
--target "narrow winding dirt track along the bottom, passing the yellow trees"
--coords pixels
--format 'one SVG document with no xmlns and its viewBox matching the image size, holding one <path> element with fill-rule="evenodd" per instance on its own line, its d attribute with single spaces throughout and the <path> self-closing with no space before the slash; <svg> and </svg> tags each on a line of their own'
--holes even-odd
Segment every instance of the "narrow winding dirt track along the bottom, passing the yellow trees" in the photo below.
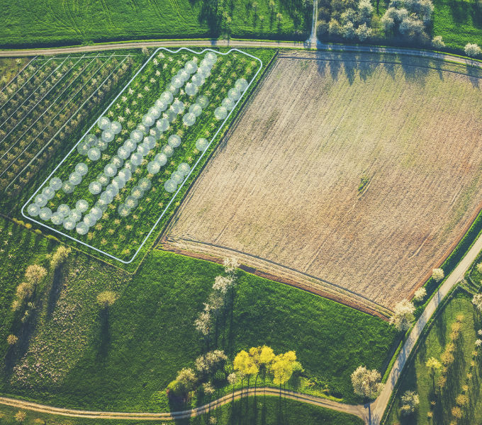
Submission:
<svg viewBox="0 0 482 425">
<path fill-rule="evenodd" d="M 212 409 L 228 404 L 233 400 L 240 399 L 242 397 L 254 396 L 263 397 L 265 395 L 271 397 L 283 397 L 286 399 L 296 400 L 298 402 L 313 404 L 318 407 L 325 407 L 327 409 L 337 410 L 338 412 L 344 412 L 348 414 L 354 414 L 361 419 L 366 420 L 366 410 L 363 406 L 354 406 L 351 404 L 343 404 L 334 402 L 322 397 L 315 397 L 313 395 L 301 394 L 300 392 L 294 392 L 290 390 L 279 390 L 276 388 L 261 387 L 243 390 L 236 390 L 234 393 L 230 393 L 219 399 L 215 399 L 208 404 L 196 407 L 196 409 L 183 410 L 181 412 L 169 412 L 169 413 L 129 413 L 129 412 L 94 412 L 90 410 L 77 410 L 77 409 L 62 409 L 59 407 L 50 407 L 45 404 L 38 404 L 33 402 L 26 402 L 23 400 L 12 399 L 8 397 L 0 397 L 0 404 L 6 406 L 15 407 L 16 409 L 26 409 L 33 412 L 57 414 L 60 416 L 69 416 L 74 418 L 85 419 L 125 419 L 135 421 L 159 421 L 159 420 L 175 420 L 186 419 L 190 417 L 200 416 L 207 413 Z"/>
</svg>

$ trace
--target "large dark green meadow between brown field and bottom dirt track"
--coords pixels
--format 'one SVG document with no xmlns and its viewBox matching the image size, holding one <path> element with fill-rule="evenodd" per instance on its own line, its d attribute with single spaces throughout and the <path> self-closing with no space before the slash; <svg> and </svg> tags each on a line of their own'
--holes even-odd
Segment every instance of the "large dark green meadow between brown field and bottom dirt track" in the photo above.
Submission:
<svg viewBox="0 0 482 425">
<path fill-rule="evenodd" d="M 30 256 L 21 255 L 4 263 L 23 270 Z M 7 353 L 2 344 L 9 363 L 1 370 L 1 392 L 59 407 L 168 411 L 167 384 L 207 348 L 194 319 L 222 270 L 156 250 L 132 277 L 72 251 L 61 273 L 50 271 L 45 279 L 23 348 Z M 7 280 L 11 292 L 18 275 Z M 120 294 L 107 323 L 96 305 L 106 289 Z M 10 306 L 11 298 L 1 300 L 4 314 Z M 216 344 L 231 360 L 240 349 L 261 344 L 275 352 L 293 349 L 306 370 L 306 391 L 346 402 L 359 402 L 352 371 L 363 364 L 383 373 L 396 339 L 376 317 L 248 273 L 240 272 L 232 311 L 222 319 L 227 324 L 220 324 Z"/>
</svg>

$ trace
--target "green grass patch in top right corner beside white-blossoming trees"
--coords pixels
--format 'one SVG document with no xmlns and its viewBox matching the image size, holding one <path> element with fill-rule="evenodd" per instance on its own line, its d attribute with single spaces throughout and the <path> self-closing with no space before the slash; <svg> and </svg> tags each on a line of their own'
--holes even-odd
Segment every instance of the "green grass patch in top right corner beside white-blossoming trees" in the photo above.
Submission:
<svg viewBox="0 0 482 425">
<path fill-rule="evenodd" d="M 464 50 L 469 42 L 482 45 L 482 5 L 468 0 L 434 0 L 432 34 L 442 35 L 452 49 Z"/>
</svg>

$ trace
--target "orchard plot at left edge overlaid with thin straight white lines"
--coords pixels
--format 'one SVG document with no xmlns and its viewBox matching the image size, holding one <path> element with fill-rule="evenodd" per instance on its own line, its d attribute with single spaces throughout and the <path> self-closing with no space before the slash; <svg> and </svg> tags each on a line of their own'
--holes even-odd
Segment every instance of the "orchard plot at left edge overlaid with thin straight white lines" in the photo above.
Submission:
<svg viewBox="0 0 482 425">
<path fill-rule="evenodd" d="M 21 191 L 132 64 L 112 53 L 31 61 L 0 94 L 0 191 Z"/>
</svg>

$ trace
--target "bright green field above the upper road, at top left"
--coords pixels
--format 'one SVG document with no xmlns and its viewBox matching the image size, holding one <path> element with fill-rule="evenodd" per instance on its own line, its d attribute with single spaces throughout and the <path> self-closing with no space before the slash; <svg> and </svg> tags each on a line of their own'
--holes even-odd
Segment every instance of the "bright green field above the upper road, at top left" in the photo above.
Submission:
<svg viewBox="0 0 482 425">
<path fill-rule="evenodd" d="M 210 4 L 223 5 L 211 10 Z M 82 44 L 92 41 L 211 37 L 299 38 L 308 34 L 311 11 L 301 1 L 276 0 L 22 0 L 2 5 L 0 46 Z M 226 26 L 223 11 L 232 19 Z M 276 14 L 281 13 L 280 20 Z"/>
</svg>

